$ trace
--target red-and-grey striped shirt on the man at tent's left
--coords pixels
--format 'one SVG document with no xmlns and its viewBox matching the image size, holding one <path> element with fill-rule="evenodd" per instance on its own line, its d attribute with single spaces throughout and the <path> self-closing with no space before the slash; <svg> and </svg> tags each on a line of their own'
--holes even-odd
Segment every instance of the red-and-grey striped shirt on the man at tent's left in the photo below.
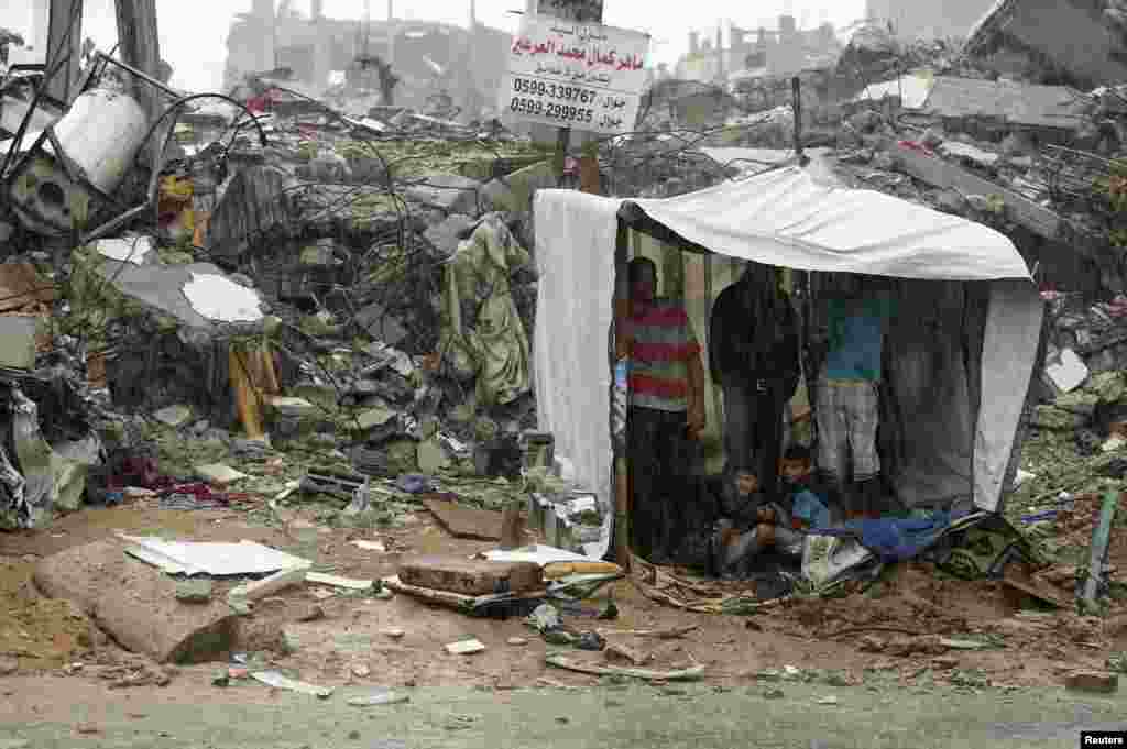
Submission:
<svg viewBox="0 0 1127 749">
<path fill-rule="evenodd" d="M 644 315 L 631 316 L 630 404 L 658 411 L 689 408 L 689 362 L 700 356 L 689 315 L 677 302 L 657 301 Z"/>
</svg>

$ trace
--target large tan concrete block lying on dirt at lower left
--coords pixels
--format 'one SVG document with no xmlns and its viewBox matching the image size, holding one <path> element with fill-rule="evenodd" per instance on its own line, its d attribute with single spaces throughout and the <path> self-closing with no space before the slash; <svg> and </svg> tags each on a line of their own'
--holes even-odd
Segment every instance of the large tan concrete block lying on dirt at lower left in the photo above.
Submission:
<svg viewBox="0 0 1127 749">
<path fill-rule="evenodd" d="M 236 649 L 237 617 L 224 601 L 185 606 L 174 579 L 127 556 L 118 541 L 47 556 L 34 581 L 48 597 L 74 601 L 127 650 L 158 662 L 205 662 Z"/>
</svg>

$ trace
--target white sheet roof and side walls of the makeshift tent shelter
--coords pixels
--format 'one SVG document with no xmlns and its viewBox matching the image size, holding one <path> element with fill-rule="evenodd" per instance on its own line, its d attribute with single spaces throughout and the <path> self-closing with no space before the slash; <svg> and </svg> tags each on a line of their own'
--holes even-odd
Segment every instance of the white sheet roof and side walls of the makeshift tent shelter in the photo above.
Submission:
<svg viewBox="0 0 1127 749">
<path fill-rule="evenodd" d="M 691 251 L 897 279 L 899 314 L 886 339 L 888 478 L 908 506 L 962 499 L 1001 509 L 1045 311 L 1003 234 L 843 188 L 817 159 L 664 199 L 541 190 L 534 209 L 540 428 L 605 515 L 614 497 L 609 337 L 628 226 Z"/>
</svg>

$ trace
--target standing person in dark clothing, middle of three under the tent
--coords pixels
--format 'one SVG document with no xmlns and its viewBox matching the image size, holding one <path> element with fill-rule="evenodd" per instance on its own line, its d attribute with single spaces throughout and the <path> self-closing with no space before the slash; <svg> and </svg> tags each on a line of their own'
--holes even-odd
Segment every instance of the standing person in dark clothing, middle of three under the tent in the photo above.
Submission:
<svg viewBox="0 0 1127 749">
<path fill-rule="evenodd" d="M 778 489 L 783 409 L 801 376 L 798 315 L 778 268 L 752 262 L 724 289 L 709 326 L 709 369 L 724 390 L 725 473 L 760 478 Z"/>
</svg>

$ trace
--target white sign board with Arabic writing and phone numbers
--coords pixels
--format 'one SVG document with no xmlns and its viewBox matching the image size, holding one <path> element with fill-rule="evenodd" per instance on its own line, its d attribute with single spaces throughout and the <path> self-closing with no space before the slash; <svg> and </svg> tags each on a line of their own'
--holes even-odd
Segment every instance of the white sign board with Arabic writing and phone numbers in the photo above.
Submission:
<svg viewBox="0 0 1127 749">
<path fill-rule="evenodd" d="M 553 127 L 621 135 L 633 130 L 649 36 L 610 26 L 525 18 L 508 52 L 500 106 Z"/>
</svg>

